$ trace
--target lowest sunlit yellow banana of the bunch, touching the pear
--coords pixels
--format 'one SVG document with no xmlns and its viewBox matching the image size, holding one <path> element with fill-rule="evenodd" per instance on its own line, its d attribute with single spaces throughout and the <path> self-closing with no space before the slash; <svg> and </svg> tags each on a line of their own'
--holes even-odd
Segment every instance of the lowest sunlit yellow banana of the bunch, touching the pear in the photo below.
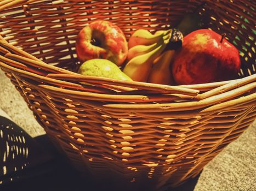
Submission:
<svg viewBox="0 0 256 191">
<path fill-rule="evenodd" d="M 123 72 L 134 81 L 146 82 L 153 61 L 161 54 L 165 47 L 166 43 L 160 43 L 156 49 L 130 59 Z"/>
</svg>

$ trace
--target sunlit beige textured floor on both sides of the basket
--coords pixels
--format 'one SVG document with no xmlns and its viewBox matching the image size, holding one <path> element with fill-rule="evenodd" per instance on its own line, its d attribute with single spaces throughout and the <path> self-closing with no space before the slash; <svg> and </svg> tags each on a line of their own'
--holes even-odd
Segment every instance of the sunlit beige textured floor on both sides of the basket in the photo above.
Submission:
<svg viewBox="0 0 256 191">
<path fill-rule="evenodd" d="M 32 137 L 45 133 L 19 92 L 2 71 L 0 71 L 0 108 Z M 240 138 L 228 145 L 204 167 L 195 191 L 256 190 L 255 145 L 256 121 Z"/>
</svg>

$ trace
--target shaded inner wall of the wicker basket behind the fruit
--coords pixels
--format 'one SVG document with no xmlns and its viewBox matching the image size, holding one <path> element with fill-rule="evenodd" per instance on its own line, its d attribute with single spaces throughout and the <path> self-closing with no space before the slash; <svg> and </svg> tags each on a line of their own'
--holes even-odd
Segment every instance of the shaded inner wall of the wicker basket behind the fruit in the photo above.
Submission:
<svg viewBox="0 0 256 191">
<path fill-rule="evenodd" d="M 240 76 L 255 73 L 253 1 L 29 1 L 1 11 L 2 36 L 45 63 L 76 71 L 75 40 L 89 22 L 109 20 L 128 38 L 138 28 L 153 32 L 175 27 L 197 10 L 203 28 L 226 33 L 240 50 Z M 197 9 L 202 6 L 201 9 Z"/>
</svg>

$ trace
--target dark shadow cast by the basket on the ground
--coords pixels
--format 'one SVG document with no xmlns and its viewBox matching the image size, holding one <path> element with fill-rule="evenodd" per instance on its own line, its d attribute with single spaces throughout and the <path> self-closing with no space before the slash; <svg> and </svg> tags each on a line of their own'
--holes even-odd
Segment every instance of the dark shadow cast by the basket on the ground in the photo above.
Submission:
<svg viewBox="0 0 256 191">
<path fill-rule="evenodd" d="M 89 175 L 81 176 L 46 135 L 33 139 L 4 117 L 0 117 L 0 127 L 0 166 L 4 166 L 0 171 L 0 190 L 129 190 L 120 189 L 122 185 L 113 188 Z M 192 191 L 199 176 L 168 191 Z M 145 184 L 139 190 L 151 188 Z"/>
</svg>

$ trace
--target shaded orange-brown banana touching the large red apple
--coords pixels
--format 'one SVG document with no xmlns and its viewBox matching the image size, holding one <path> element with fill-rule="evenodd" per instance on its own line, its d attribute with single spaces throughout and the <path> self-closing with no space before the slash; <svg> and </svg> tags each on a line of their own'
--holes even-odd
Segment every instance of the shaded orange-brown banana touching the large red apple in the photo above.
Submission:
<svg viewBox="0 0 256 191">
<path fill-rule="evenodd" d="M 174 85 L 170 63 L 174 57 L 175 50 L 167 50 L 160 55 L 158 61 L 153 65 L 148 82 L 164 85 Z"/>
</svg>

